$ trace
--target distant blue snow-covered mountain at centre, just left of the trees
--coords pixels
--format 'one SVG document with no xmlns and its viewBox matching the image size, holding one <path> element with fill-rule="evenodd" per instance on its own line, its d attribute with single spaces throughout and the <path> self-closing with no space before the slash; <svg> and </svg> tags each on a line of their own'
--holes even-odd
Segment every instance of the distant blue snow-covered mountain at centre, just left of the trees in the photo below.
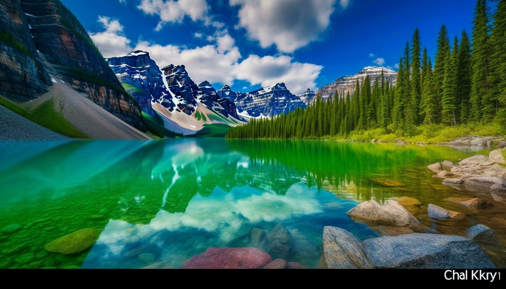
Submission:
<svg viewBox="0 0 506 289">
<path fill-rule="evenodd" d="M 234 92 L 226 85 L 218 94 L 233 101 L 239 114 L 244 116 L 273 116 L 288 113 L 297 107 L 306 107 L 298 96 L 290 93 L 283 82 L 248 93 Z"/>
</svg>

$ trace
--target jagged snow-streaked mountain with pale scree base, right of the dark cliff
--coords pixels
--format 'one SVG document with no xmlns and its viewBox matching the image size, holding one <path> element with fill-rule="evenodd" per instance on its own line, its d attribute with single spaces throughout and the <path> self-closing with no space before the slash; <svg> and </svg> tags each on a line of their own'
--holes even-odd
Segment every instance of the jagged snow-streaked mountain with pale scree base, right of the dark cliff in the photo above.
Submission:
<svg viewBox="0 0 506 289">
<path fill-rule="evenodd" d="M 235 104 L 221 98 L 208 81 L 196 85 L 184 65 L 160 69 L 145 51 L 106 61 L 142 111 L 158 119 L 161 116 L 161 125 L 168 130 L 193 134 L 205 124 L 235 126 L 246 121 L 237 114 Z"/>
</svg>

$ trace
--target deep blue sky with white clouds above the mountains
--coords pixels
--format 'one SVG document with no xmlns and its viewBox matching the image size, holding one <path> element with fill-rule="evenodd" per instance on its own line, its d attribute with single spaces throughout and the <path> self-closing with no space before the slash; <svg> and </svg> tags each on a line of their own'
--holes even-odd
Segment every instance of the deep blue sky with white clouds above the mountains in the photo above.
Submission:
<svg viewBox="0 0 506 289">
<path fill-rule="evenodd" d="M 442 24 L 470 34 L 476 1 L 62 0 L 105 57 L 146 50 L 184 64 L 195 82 L 251 91 L 274 82 L 300 94 L 368 65 L 396 70 L 420 30 L 433 56 Z M 489 6 L 495 6 L 489 3 Z M 375 63 L 376 64 L 375 64 Z"/>
</svg>

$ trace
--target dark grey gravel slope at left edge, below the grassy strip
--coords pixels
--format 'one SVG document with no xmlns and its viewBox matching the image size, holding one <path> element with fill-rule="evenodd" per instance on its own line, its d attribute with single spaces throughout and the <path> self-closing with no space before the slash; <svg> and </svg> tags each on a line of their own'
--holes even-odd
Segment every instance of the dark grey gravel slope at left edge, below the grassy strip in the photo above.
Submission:
<svg viewBox="0 0 506 289">
<path fill-rule="evenodd" d="M 0 106 L 0 141 L 70 140 Z"/>
</svg>

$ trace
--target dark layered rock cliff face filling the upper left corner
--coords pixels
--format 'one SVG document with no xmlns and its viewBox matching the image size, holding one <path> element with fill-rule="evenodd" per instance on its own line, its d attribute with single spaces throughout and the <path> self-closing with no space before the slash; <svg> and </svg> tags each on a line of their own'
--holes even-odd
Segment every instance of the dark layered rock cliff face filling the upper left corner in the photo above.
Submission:
<svg viewBox="0 0 506 289">
<path fill-rule="evenodd" d="M 2 27 L 22 44 L 2 41 L 9 51 L 17 50 L 13 55 L 0 53 L 1 89 L 6 97 L 36 98 L 51 85 L 51 73 L 108 112 L 146 130 L 139 105 L 124 92 L 86 30 L 60 1 L 6 0 L 0 10 L 2 21 L 10 23 Z"/>
</svg>

